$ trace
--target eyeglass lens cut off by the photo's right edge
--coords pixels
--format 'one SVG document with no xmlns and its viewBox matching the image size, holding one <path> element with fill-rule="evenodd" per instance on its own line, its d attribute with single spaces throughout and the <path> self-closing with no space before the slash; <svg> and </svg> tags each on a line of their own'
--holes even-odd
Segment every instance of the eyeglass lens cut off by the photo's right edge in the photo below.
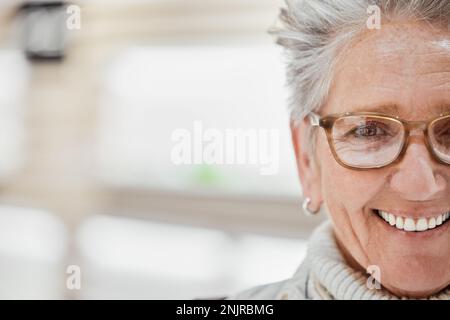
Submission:
<svg viewBox="0 0 450 320">
<path fill-rule="evenodd" d="M 430 142 L 434 153 L 442 161 L 450 164 L 450 116 L 438 119 L 431 124 Z"/>
</svg>

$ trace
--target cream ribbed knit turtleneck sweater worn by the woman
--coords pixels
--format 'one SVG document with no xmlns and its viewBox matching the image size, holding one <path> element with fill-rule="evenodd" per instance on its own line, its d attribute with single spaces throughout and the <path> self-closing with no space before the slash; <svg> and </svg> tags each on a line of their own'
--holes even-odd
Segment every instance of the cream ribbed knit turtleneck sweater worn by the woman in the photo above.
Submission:
<svg viewBox="0 0 450 320">
<path fill-rule="evenodd" d="M 329 222 L 313 233 L 308 253 L 292 278 L 258 286 L 230 299 L 398 300 L 387 290 L 369 289 L 367 275 L 349 267 L 337 247 Z M 428 299 L 450 300 L 450 288 Z"/>
</svg>

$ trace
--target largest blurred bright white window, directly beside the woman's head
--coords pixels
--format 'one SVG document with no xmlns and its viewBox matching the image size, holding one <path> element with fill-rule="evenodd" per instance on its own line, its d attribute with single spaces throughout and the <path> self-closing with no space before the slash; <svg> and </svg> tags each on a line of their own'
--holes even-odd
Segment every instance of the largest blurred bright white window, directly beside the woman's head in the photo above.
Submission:
<svg viewBox="0 0 450 320">
<path fill-rule="evenodd" d="M 107 71 L 96 171 L 106 185 L 238 195 L 298 195 L 280 51 L 254 47 L 135 47 Z M 175 165 L 182 128 L 275 129 L 278 171 L 257 165 Z M 278 146 L 277 146 L 278 147 Z"/>
</svg>

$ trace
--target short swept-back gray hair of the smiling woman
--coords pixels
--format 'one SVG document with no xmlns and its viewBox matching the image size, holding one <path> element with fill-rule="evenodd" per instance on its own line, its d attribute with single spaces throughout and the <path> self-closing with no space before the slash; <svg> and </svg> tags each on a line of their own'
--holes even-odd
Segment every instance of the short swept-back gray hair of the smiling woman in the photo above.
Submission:
<svg viewBox="0 0 450 320">
<path fill-rule="evenodd" d="M 273 28 L 277 43 L 285 49 L 289 112 L 299 121 L 324 103 L 333 79 L 339 50 L 362 28 L 376 5 L 381 17 L 415 18 L 446 23 L 450 0 L 285 0 L 281 26 Z"/>
</svg>

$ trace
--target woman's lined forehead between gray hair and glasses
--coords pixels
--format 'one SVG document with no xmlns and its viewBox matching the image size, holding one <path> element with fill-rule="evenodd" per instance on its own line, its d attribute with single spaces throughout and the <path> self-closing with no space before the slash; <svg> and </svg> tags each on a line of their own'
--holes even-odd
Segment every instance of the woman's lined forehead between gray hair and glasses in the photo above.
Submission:
<svg viewBox="0 0 450 320">
<path fill-rule="evenodd" d="M 368 31 L 340 54 L 324 114 L 383 111 L 405 119 L 450 110 L 450 32 L 424 24 Z"/>
</svg>

